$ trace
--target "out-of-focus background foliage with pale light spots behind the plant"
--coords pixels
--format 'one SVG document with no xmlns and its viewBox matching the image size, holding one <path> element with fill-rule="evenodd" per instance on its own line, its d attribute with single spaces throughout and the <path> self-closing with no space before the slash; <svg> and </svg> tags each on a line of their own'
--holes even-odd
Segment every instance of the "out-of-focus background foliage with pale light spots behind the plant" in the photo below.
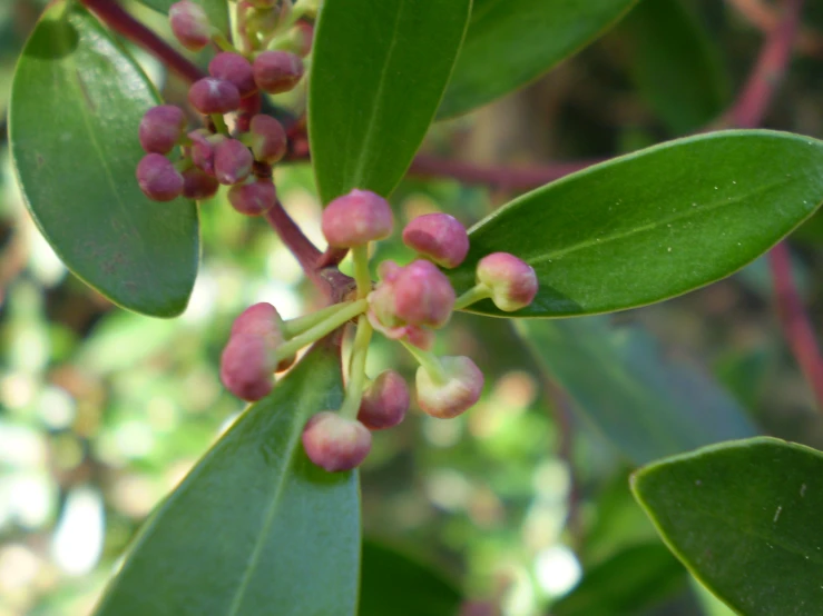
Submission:
<svg viewBox="0 0 823 616">
<path fill-rule="evenodd" d="M 0 3 L 3 111 L 42 6 Z M 129 8 L 168 33 L 157 14 Z M 804 53 L 767 126 L 823 137 L 823 38 L 814 33 L 823 32 L 823 6 L 810 3 L 804 26 Z M 424 151 L 535 166 L 685 135 L 729 103 L 762 39 L 732 2 L 644 0 L 525 90 L 437 125 Z M 169 101 L 184 100 L 180 82 L 133 51 Z M 303 105 L 300 96 L 285 102 Z M 82 615 L 153 507 L 242 410 L 217 376 L 233 318 L 261 300 L 293 317 L 320 298 L 265 221 L 218 197 L 200 207 L 203 262 L 186 312 L 128 314 L 67 274 L 40 237 L 6 139 L 0 171 L 0 616 Z M 311 170 L 282 167 L 277 186 L 322 244 Z M 410 177 L 392 201 L 401 223 L 435 209 L 470 223 L 510 196 Z M 791 244 L 816 316 L 823 218 Z M 396 241 L 380 250 L 411 256 Z M 459 316 L 438 345 L 483 368 L 483 399 L 460 418 L 413 413 L 376 436 L 362 469 L 364 525 L 366 536 L 441 570 L 468 598 L 467 615 L 727 614 L 657 539 L 628 473 L 648 451 L 687 448 L 672 434 L 677 426 L 703 430 L 703 440 L 728 434 L 715 430 L 717 416 L 736 421 L 733 433 L 823 448 L 823 421 L 782 338 L 763 262 L 663 305 L 574 325 L 516 329 Z M 414 368 L 383 340 L 370 361 L 372 372 Z M 655 424 L 658 405 L 666 419 Z M 391 554 L 375 549 L 366 558 Z"/>
</svg>

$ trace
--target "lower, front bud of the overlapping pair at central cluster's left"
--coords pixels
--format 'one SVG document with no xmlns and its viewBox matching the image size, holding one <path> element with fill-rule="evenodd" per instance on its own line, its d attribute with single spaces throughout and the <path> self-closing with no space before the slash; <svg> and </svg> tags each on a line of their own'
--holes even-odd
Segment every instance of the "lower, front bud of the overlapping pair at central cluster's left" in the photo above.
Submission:
<svg viewBox="0 0 823 616">
<path fill-rule="evenodd" d="M 271 350 L 263 338 L 239 334 L 228 339 L 221 357 L 221 380 L 238 398 L 254 401 L 272 390 Z"/>
</svg>

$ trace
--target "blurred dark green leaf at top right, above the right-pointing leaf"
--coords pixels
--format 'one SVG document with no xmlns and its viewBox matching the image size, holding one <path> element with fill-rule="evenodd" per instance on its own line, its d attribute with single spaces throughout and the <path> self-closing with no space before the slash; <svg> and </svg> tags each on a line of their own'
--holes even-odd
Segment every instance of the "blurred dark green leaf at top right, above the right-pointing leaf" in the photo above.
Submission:
<svg viewBox="0 0 823 616">
<path fill-rule="evenodd" d="M 708 123 L 728 103 L 719 52 L 682 0 L 644 0 L 618 26 L 633 77 L 677 133 Z"/>
</svg>

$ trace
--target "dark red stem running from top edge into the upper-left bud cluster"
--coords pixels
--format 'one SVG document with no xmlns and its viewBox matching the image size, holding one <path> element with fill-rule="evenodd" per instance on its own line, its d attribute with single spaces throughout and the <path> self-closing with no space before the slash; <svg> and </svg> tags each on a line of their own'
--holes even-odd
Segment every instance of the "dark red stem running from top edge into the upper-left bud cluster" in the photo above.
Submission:
<svg viewBox="0 0 823 616">
<path fill-rule="evenodd" d="M 98 19 L 115 32 L 119 32 L 131 42 L 145 48 L 186 81 L 195 82 L 205 77 L 200 69 L 126 12 L 115 0 L 80 0 L 80 2 L 94 11 Z"/>
</svg>

